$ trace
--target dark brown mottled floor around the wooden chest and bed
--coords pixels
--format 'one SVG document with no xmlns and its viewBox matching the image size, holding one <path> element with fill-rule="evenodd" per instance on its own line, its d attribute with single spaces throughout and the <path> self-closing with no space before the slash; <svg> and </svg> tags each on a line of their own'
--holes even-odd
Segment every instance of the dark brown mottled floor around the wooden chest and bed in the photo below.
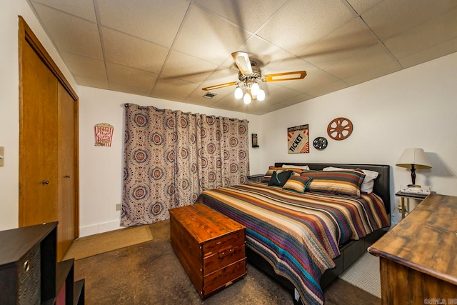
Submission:
<svg viewBox="0 0 457 305">
<path fill-rule="evenodd" d="M 154 239 L 75 261 L 75 280 L 85 279 L 86 304 L 293 304 L 286 291 L 248 264 L 248 274 L 201 300 L 169 241 L 169 221 L 149 226 Z M 381 304 L 346 281 L 324 290 L 326 305 Z"/>
</svg>

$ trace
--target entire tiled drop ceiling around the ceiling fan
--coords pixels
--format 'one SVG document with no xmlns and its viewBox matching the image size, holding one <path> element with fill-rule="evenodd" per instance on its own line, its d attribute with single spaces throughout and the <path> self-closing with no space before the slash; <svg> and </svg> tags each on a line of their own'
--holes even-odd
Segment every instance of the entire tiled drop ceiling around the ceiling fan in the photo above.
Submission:
<svg viewBox="0 0 457 305">
<path fill-rule="evenodd" d="M 455 0 L 28 0 L 81 86 L 266 114 L 457 51 Z M 245 105 L 233 51 L 262 74 Z M 426 75 L 424 75 L 426 77 Z"/>
</svg>

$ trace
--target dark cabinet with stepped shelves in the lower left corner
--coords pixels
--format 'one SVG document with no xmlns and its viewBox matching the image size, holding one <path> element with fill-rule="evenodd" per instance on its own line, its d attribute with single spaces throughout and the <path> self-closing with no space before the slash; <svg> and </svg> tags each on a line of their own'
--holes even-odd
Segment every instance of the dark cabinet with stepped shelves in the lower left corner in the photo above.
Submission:
<svg viewBox="0 0 457 305">
<path fill-rule="evenodd" d="M 74 284 L 73 259 L 56 263 L 56 239 L 56 222 L 0 231 L 0 304 L 84 304 L 84 280 Z"/>
</svg>

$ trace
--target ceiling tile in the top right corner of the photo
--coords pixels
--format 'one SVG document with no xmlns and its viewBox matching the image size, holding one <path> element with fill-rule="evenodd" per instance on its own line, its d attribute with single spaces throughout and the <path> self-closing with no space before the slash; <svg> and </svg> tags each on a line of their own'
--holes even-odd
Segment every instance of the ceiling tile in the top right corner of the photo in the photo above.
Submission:
<svg viewBox="0 0 457 305">
<path fill-rule="evenodd" d="M 361 16 L 379 39 L 386 40 L 456 6 L 453 0 L 385 0 Z"/>
</svg>

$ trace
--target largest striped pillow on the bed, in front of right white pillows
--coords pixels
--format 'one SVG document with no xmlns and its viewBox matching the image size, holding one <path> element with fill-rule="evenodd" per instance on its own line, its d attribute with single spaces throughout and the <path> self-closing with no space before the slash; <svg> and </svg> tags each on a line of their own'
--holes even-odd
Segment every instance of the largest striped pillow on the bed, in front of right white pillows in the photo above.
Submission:
<svg viewBox="0 0 457 305">
<path fill-rule="evenodd" d="M 361 170 L 345 169 L 340 171 L 303 171 L 301 176 L 311 178 L 308 191 L 360 197 L 360 186 L 365 174 Z"/>
</svg>

